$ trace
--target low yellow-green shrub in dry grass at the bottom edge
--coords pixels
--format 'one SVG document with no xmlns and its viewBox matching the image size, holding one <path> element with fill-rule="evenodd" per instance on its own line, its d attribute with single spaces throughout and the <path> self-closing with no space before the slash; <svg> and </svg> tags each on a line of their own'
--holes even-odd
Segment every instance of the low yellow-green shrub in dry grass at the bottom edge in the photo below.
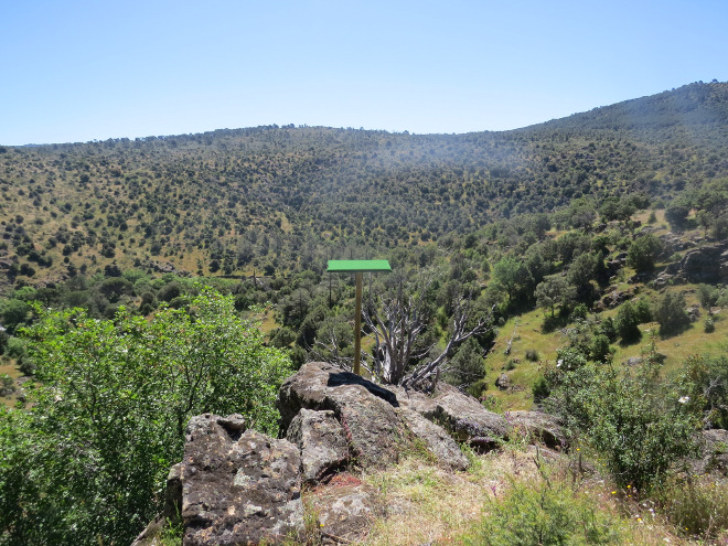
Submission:
<svg viewBox="0 0 728 546">
<path fill-rule="evenodd" d="M 489 512 L 464 544 L 488 546 L 557 546 L 614 544 L 617 517 L 599 503 L 575 492 L 565 480 L 514 481 L 503 496 L 489 502 Z"/>
</svg>

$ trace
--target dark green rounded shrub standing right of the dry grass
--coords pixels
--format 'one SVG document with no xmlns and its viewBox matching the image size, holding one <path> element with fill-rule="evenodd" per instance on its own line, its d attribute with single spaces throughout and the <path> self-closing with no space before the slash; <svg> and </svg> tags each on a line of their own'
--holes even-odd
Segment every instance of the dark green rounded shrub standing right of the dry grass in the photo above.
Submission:
<svg viewBox="0 0 728 546">
<path fill-rule="evenodd" d="M 679 402 L 684 388 L 661 378 L 651 360 L 635 372 L 585 365 L 552 383 L 549 409 L 596 448 L 621 485 L 649 489 L 696 452 L 694 408 Z"/>
</svg>

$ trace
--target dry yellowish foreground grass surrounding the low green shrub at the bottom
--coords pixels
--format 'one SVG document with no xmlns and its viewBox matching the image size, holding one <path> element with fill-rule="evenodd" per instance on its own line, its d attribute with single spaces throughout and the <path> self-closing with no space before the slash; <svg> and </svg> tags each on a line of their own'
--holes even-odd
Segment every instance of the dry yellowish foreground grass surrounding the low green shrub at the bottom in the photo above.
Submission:
<svg viewBox="0 0 728 546">
<path fill-rule="evenodd" d="M 409 457 L 396 467 L 371 472 L 364 480 L 386 499 L 386 516 L 374 522 L 367 546 L 475 544 L 473 529 L 489 515 L 489 503 L 501 499 L 514 480 L 537 486 L 543 481 L 533 450 L 508 448 L 478 456 L 468 472 L 452 473 Z M 705 544 L 679 536 L 651 504 L 636 502 L 598 474 L 575 480 L 566 457 L 548 464 L 549 480 L 561 480 L 593 500 L 615 522 L 623 545 Z M 475 535 L 477 536 L 477 535 Z"/>
</svg>

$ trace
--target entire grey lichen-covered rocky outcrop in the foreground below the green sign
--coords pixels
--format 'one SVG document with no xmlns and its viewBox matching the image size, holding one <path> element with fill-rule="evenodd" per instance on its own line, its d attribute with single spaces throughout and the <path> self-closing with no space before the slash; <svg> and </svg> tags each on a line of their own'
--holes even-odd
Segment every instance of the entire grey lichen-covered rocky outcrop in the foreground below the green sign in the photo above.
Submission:
<svg viewBox="0 0 728 546">
<path fill-rule="evenodd" d="M 184 546 L 279 544 L 311 533 L 323 544 L 360 542 L 383 502 L 350 472 L 396 462 L 406 451 L 465 470 L 457 441 L 488 451 L 515 432 L 565 446 L 558 421 L 545 414 L 505 418 L 447 384 L 432 395 L 385 388 L 325 363 L 288 378 L 278 406 L 286 439 L 246 430 L 238 415 L 190 420 L 163 513 L 168 522 L 181 518 Z M 148 538 L 162 525 L 152 522 L 136 544 L 154 544 Z"/>
</svg>

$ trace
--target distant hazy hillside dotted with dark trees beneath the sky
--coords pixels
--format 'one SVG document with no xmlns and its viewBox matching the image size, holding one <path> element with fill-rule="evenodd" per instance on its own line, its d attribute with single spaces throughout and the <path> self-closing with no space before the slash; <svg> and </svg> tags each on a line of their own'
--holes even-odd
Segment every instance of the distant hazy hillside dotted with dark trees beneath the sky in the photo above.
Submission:
<svg viewBox="0 0 728 546">
<path fill-rule="evenodd" d="M 113 261 L 320 269 L 579 197 L 668 202 L 728 175 L 727 97 L 728 84 L 692 84 L 506 132 L 270 126 L 1 147 L 2 281 Z"/>
</svg>

